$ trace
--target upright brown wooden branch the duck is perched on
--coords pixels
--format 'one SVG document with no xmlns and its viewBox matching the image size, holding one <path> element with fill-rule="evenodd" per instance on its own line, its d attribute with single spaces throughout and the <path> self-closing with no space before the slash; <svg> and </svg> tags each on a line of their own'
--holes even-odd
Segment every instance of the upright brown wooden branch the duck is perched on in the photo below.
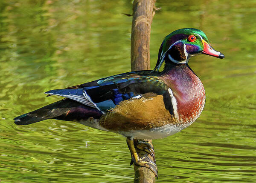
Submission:
<svg viewBox="0 0 256 183">
<path fill-rule="evenodd" d="M 150 70 L 150 32 L 151 23 L 156 10 L 156 0 L 134 0 L 133 20 L 131 28 L 131 70 Z M 152 141 L 152 140 L 148 140 Z M 136 149 L 140 157 L 144 151 Z M 153 160 L 151 155 L 148 157 Z M 134 183 L 154 183 L 154 173 L 145 167 L 134 165 Z"/>
</svg>

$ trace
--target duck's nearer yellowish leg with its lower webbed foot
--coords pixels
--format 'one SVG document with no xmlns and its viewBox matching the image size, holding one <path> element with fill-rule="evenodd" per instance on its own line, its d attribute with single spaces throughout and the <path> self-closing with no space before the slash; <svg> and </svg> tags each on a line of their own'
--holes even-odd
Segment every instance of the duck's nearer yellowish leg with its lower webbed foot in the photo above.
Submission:
<svg viewBox="0 0 256 183">
<path fill-rule="evenodd" d="M 131 137 L 127 137 L 126 142 L 127 142 L 128 148 L 131 152 L 132 162 L 135 165 L 143 166 L 143 167 L 150 169 L 154 173 L 154 175 L 156 177 L 158 177 L 157 176 L 157 171 L 158 171 L 157 165 L 151 159 L 149 159 L 146 155 L 141 158 L 139 157 L 139 155 L 136 152 L 135 146 L 134 146 L 134 139 Z"/>
</svg>

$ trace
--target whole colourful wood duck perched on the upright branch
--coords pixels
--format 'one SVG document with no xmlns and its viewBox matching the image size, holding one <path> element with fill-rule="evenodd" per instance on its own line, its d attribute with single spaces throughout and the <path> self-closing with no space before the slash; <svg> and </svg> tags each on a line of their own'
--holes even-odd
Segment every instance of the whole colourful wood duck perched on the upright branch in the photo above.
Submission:
<svg viewBox="0 0 256 183">
<path fill-rule="evenodd" d="M 163 40 L 153 71 L 131 71 L 50 90 L 47 96 L 65 98 L 14 118 L 15 123 L 28 125 L 57 119 L 119 133 L 127 137 L 133 163 L 151 169 L 157 176 L 156 164 L 140 159 L 134 144 L 154 156 L 151 143 L 136 139 L 167 137 L 199 117 L 205 103 L 204 86 L 188 66 L 189 59 L 198 54 L 224 58 L 210 46 L 203 31 L 173 31 Z M 164 69 L 159 71 L 163 62 Z"/>
</svg>

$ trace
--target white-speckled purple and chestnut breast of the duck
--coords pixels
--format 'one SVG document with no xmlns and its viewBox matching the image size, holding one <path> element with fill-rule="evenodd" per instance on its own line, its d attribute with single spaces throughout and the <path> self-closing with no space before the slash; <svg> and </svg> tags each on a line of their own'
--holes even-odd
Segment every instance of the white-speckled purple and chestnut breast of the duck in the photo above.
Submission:
<svg viewBox="0 0 256 183">
<path fill-rule="evenodd" d="M 201 80 L 185 65 L 174 67 L 162 79 L 172 89 L 177 101 L 178 123 L 193 123 L 205 104 L 205 91 Z"/>
</svg>

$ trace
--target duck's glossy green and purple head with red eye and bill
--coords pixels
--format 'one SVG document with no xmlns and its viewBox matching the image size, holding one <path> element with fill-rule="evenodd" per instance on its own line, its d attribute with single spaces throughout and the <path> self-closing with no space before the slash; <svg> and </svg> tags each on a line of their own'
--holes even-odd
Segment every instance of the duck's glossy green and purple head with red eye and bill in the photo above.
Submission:
<svg viewBox="0 0 256 183">
<path fill-rule="evenodd" d="M 157 65 L 159 70 L 163 61 L 177 64 L 188 63 L 192 56 L 207 54 L 217 58 L 224 58 L 224 54 L 215 51 L 203 31 L 186 28 L 173 31 L 165 37 L 158 53 Z"/>
</svg>

